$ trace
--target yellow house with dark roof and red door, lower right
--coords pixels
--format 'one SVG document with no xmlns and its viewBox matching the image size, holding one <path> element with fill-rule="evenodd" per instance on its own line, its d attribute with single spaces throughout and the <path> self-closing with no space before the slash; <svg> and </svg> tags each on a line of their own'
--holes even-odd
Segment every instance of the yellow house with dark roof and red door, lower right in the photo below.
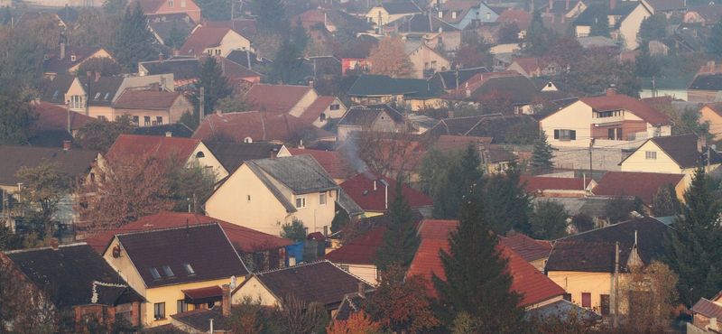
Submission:
<svg viewBox="0 0 722 334">
<path fill-rule="evenodd" d="M 609 315 L 615 302 L 611 287 L 616 243 L 624 275 L 629 266 L 651 264 L 666 255 L 669 228 L 654 218 L 638 218 L 559 239 L 551 248 L 547 276 L 564 288 L 571 302 Z"/>
</svg>

